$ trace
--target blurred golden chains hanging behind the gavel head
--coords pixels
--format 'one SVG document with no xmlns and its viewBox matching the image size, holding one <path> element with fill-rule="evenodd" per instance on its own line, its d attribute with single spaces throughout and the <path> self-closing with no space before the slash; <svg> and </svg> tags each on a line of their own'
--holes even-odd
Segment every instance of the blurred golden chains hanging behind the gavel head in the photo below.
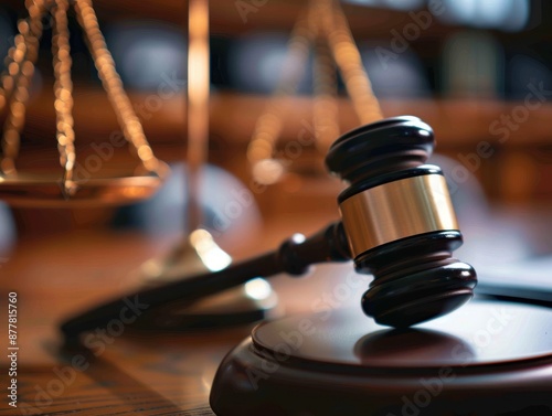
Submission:
<svg viewBox="0 0 552 416">
<path fill-rule="evenodd" d="M 306 66 L 309 44 L 315 44 L 315 136 L 318 148 L 325 152 L 339 136 L 338 107 L 335 100 L 337 84 L 335 66 L 343 76 L 347 92 L 361 124 L 383 118 L 370 78 L 364 71 L 359 49 L 354 43 L 347 18 L 335 0 L 311 0 L 307 11 L 297 20 L 273 98 L 258 118 L 247 148 L 247 159 L 253 177 L 263 184 L 275 183 L 284 173 L 283 162 L 275 160 L 275 149 L 285 118 L 284 106 L 277 98 L 294 94 L 300 71 Z M 333 74 L 332 74 L 333 72 Z"/>
</svg>

